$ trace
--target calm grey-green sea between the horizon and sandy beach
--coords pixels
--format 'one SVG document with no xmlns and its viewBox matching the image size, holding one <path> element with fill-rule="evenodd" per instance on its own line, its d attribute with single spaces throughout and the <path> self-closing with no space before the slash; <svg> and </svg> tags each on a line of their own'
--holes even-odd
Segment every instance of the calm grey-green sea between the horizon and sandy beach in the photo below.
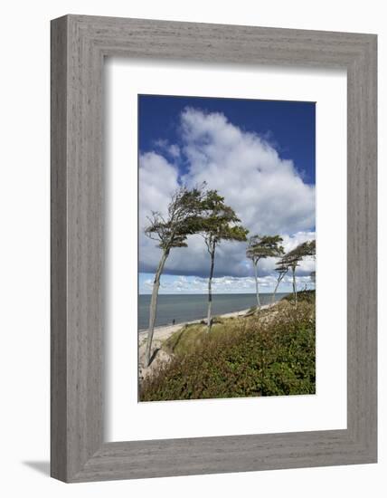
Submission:
<svg viewBox="0 0 387 498">
<path fill-rule="evenodd" d="M 276 301 L 286 293 L 279 292 Z M 145 330 L 149 321 L 150 295 L 138 296 L 138 329 Z M 159 295 L 157 301 L 156 327 L 176 323 L 200 320 L 207 315 L 207 294 L 166 294 Z M 260 303 L 271 302 L 271 294 L 260 294 Z M 255 294 L 213 294 L 212 316 L 247 310 L 255 306 Z"/>
</svg>

